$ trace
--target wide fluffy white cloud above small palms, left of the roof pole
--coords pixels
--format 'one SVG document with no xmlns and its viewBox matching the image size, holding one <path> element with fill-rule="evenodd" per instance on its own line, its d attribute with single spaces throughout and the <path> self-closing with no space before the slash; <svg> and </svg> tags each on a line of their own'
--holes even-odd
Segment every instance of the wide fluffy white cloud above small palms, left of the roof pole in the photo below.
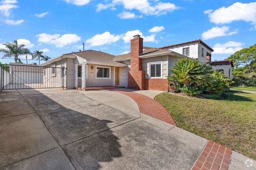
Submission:
<svg viewBox="0 0 256 170">
<path fill-rule="evenodd" d="M 81 37 L 76 34 L 64 34 L 60 36 L 60 34 L 38 34 L 36 35 L 38 38 L 38 42 L 43 42 L 47 44 L 54 44 L 56 47 L 63 47 L 65 45 L 70 45 L 72 43 L 76 43 L 81 41 Z"/>
</svg>

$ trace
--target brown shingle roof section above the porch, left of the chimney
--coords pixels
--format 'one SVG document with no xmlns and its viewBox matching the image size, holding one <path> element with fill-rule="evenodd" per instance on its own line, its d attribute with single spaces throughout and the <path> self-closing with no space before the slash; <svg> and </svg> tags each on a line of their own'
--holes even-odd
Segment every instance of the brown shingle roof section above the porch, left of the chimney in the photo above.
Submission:
<svg viewBox="0 0 256 170">
<path fill-rule="evenodd" d="M 87 50 L 87 51 L 81 51 L 81 52 L 67 53 L 63 55 L 70 55 L 70 54 L 74 54 L 76 56 L 84 58 L 85 60 L 103 61 L 107 63 L 120 64 L 119 62 L 114 61 L 114 58 L 115 58 L 114 55 L 111 55 L 102 51 Z"/>
</svg>

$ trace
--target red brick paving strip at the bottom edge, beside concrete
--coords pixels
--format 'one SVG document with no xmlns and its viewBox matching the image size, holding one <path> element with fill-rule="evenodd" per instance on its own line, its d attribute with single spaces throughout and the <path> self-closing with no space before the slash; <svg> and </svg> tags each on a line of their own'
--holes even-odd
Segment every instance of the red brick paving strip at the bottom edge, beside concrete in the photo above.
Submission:
<svg viewBox="0 0 256 170">
<path fill-rule="evenodd" d="M 231 149 L 208 141 L 192 170 L 228 170 Z"/>
</svg>

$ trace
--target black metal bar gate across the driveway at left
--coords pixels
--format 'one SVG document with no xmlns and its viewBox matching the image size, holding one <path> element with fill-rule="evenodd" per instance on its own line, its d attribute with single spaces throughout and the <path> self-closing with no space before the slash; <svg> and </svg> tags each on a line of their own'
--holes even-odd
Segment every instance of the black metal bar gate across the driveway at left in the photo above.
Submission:
<svg viewBox="0 0 256 170">
<path fill-rule="evenodd" d="M 1 64 L 3 90 L 67 88 L 67 68 Z"/>
</svg>

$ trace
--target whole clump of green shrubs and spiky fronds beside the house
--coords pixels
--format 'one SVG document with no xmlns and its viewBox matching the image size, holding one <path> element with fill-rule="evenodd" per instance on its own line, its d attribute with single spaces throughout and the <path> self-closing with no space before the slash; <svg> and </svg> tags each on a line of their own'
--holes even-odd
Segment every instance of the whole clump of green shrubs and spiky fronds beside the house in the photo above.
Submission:
<svg viewBox="0 0 256 170">
<path fill-rule="evenodd" d="M 176 61 L 173 74 L 167 79 L 176 83 L 176 92 L 179 90 L 189 96 L 198 94 L 221 94 L 229 91 L 232 83 L 223 73 L 213 70 L 208 64 L 201 64 L 198 60 L 184 58 Z"/>
</svg>

